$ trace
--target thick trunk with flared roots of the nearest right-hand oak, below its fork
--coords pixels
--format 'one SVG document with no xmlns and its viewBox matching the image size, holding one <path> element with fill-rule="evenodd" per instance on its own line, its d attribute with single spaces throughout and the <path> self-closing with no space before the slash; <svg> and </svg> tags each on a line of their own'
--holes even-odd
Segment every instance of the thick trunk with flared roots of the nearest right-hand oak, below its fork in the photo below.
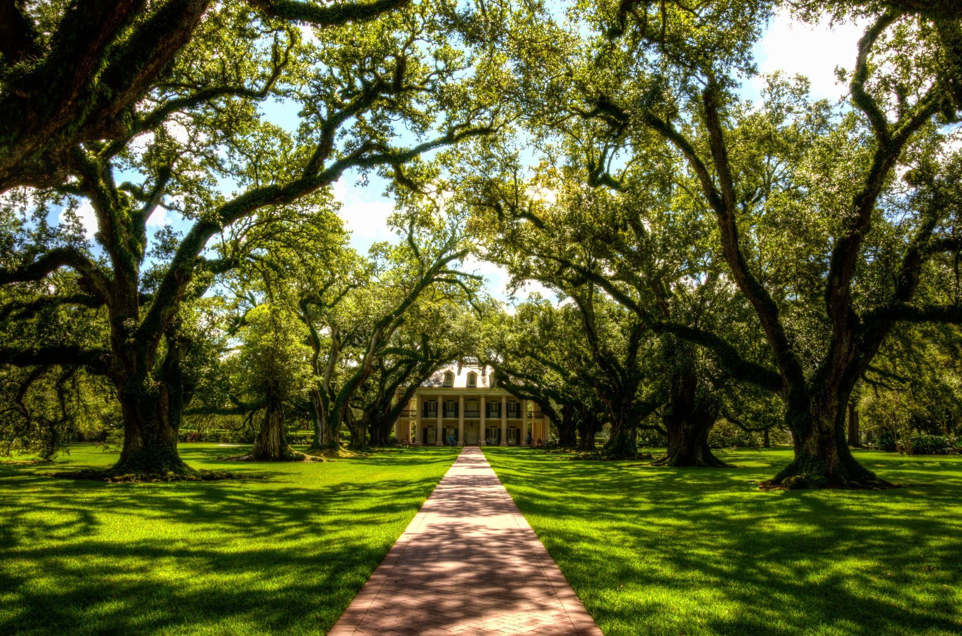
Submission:
<svg viewBox="0 0 962 636">
<path fill-rule="evenodd" d="M 833 394 L 835 392 L 832 392 Z M 821 398 L 821 399 L 820 399 Z M 846 439 L 848 394 L 816 396 L 811 406 L 789 399 L 786 415 L 795 460 L 762 486 L 797 488 L 894 488 L 852 457 Z"/>
</svg>

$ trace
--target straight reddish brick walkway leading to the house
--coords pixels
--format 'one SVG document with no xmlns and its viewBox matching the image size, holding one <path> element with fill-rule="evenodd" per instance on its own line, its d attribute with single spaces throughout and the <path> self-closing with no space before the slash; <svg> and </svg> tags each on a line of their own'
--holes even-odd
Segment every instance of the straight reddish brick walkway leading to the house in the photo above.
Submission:
<svg viewBox="0 0 962 636">
<path fill-rule="evenodd" d="M 331 634 L 597 634 L 480 448 L 466 447 Z"/>
</svg>

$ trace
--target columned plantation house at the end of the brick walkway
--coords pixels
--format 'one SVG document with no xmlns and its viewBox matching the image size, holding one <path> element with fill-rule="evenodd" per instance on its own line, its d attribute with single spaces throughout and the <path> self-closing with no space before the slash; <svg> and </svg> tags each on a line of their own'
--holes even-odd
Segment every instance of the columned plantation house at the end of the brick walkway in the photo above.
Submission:
<svg viewBox="0 0 962 636">
<path fill-rule="evenodd" d="M 491 386 L 493 369 L 452 365 L 415 391 L 394 424 L 401 444 L 527 445 L 547 441 L 548 422 L 534 401 Z"/>
</svg>

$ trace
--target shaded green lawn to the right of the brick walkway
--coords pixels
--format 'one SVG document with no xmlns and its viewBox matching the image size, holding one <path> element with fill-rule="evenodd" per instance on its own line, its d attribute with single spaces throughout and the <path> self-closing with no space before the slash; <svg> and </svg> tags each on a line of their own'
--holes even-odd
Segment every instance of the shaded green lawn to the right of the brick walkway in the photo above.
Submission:
<svg viewBox="0 0 962 636">
<path fill-rule="evenodd" d="M 485 448 L 605 634 L 962 632 L 962 457 L 865 451 L 886 492 L 760 492 L 742 469 Z"/>
</svg>

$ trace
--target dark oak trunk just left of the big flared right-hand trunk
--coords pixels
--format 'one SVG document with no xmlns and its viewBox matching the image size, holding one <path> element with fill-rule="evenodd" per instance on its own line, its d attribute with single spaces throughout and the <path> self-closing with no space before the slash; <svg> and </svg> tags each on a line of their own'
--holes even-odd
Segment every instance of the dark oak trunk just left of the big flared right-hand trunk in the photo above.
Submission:
<svg viewBox="0 0 962 636">
<path fill-rule="evenodd" d="M 698 395 L 695 373 L 673 378 L 671 403 L 662 422 L 668 432 L 668 450 L 653 466 L 730 468 L 708 447 L 708 433 L 719 416 L 719 405 Z"/>
</svg>

